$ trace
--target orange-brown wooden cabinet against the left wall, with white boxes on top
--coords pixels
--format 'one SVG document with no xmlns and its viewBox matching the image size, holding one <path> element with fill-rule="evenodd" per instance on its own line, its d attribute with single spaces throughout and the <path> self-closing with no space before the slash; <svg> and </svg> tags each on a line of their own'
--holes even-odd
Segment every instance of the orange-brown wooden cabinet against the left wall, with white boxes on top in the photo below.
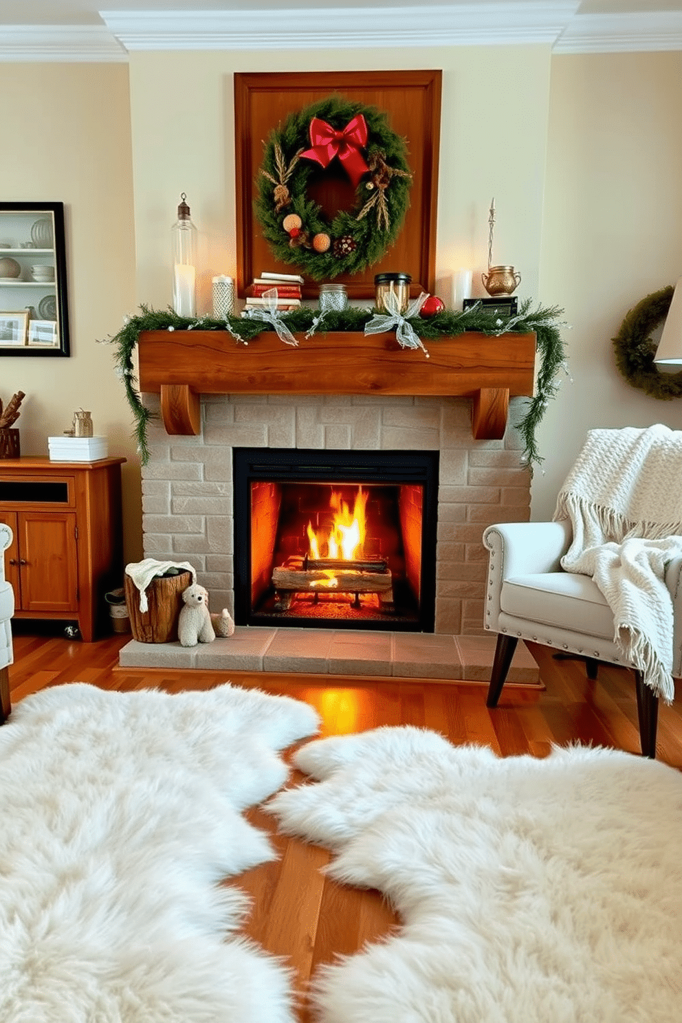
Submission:
<svg viewBox="0 0 682 1023">
<path fill-rule="evenodd" d="M 104 593 L 123 580 L 125 460 L 0 461 L 0 522 L 14 534 L 5 574 L 15 618 L 76 619 L 86 642 L 103 631 Z"/>
</svg>

